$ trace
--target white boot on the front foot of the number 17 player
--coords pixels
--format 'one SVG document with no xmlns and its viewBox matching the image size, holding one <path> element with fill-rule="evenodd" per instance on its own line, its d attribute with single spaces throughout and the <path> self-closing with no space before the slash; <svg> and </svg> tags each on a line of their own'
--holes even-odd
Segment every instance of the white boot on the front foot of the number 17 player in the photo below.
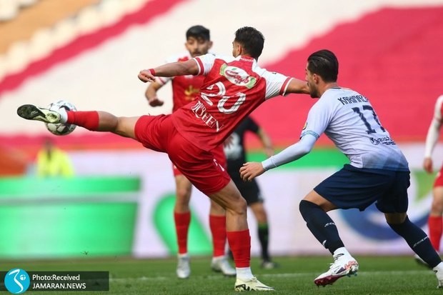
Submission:
<svg viewBox="0 0 443 295">
<path fill-rule="evenodd" d="M 314 284 L 317 286 L 332 285 L 334 281 L 343 276 L 351 276 L 352 274 L 357 276 L 358 270 L 359 264 L 352 256 L 337 254 L 334 255 L 334 263 L 329 266 L 329 271 L 317 276 L 314 279 Z"/>
</svg>

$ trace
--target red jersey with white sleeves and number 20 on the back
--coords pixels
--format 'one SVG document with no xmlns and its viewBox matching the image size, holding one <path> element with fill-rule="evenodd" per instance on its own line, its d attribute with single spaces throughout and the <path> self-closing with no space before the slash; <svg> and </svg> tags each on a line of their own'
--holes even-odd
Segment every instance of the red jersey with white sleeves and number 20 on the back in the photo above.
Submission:
<svg viewBox="0 0 443 295">
<path fill-rule="evenodd" d="M 249 56 L 194 59 L 205 76 L 196 100 L 172 114 L 177 131 L 194 145 L 211 151 L 266 99 L 284 95 L 292 78 L 261 69 Z"/>
</svg>

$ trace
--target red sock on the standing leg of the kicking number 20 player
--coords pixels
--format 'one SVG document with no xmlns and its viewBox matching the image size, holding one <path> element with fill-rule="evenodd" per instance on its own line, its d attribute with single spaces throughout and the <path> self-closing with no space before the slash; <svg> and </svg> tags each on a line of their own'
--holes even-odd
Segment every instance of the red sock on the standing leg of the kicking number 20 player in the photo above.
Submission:
<svg viewBox="0 0 443 295">
<path fill-rule="evenodd" d="M 249 229 L 244 231 L 227 231 L 229 248 L 234 256 L 235 267 L 250 267 L 251 236 Z"/>
</svg>

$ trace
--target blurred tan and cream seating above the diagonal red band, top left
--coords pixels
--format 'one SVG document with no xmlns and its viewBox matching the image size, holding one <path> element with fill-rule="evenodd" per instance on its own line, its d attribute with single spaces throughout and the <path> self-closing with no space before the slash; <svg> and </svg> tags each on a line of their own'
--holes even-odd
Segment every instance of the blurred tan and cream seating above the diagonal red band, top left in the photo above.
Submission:
<svg viewBox="0 0 443 295">
<path fill-rule="evenodd" d="M 13 21 L 0 24 L 0 80 L 145 3 L 146 0 L 39 1 Z"/>
</svg>

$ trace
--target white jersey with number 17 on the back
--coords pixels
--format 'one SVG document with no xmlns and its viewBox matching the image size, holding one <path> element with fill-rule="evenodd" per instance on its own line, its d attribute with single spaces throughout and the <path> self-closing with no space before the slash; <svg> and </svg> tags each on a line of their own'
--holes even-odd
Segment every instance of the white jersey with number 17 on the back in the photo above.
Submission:
<svg viewBox="0 0 443 295">
<path fill-rule="evenodd" d="M 302 136 L 324 133 L 357 168 L 409 171 L 407 160 L 369 100 L 351 89 L 324 92 L 309 111 Z"/>
</svg>

